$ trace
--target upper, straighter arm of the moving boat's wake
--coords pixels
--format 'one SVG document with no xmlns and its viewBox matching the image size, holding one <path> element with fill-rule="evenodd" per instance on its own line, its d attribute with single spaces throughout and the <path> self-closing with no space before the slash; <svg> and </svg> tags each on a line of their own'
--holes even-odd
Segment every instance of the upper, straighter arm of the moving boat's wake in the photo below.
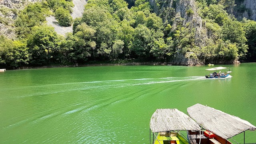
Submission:
<svg viewBox="0 0 256 144">
<path fill-rule="evenodd" d="M 60 94 L 72 91 L 82 90 L 106 90 L 110 88 L 122 88 L 128 86 L 139 86 L 149 84 L 160 83 L 172 83 L 172 82 L 185 82 L 193 80 L 205 80 L 204 76 L 188 76 L 188 77 L 166 77 L 166 78 L 136 78 L 126 80 L 101 80 L 101 81 L 88 81 L 88 82 L 71 82 L 71 83 L 59 83 L 59 84 L 47 84 L 47 85 L 34 85 L 34 86 L 22 86 L 14 88 L 6 88 L 8 92 L 12 92 L 16 98 L 23 98 L 27 96 L 43 96 L 49 94 Z M 23 90 L 23 94 L 19 94 L 20 90 Z M 17 96 L 18 94 L 18 96 Z"/>
</svg>

